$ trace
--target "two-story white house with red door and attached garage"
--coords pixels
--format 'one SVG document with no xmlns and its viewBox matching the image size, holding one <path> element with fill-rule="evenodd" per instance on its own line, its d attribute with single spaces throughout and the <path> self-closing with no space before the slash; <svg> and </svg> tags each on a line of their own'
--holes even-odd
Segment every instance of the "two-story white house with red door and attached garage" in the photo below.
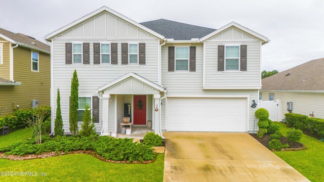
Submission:
<svg viewBox="0 0 324 182">
<path fill-rule="evenodd" d="M 153 121 L 167 131 L 253 131 L 268 38 L 237 23 L 220 29 L 170 20 L 137 23 L 102 7 L 46 35 L 52 42 L 52 131 L 57 88 L 69 132 L 72 73 L 79 118 L 91 106 L 97 132 Z M 128 110 L 130 108 L 130 111 Z"/>
</svg>

